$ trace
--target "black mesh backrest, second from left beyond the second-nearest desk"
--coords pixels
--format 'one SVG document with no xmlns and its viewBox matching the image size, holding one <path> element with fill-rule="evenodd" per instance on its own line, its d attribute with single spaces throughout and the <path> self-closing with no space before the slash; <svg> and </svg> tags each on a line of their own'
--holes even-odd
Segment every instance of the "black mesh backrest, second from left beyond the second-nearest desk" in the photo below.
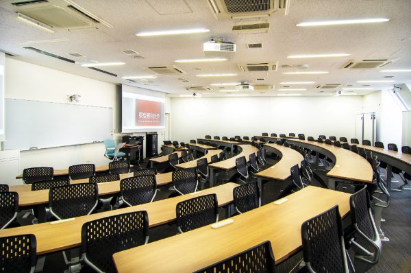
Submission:
<svg viewBox="0 0 411 273">
<path fill-rule="evenodd" d="M 52 215 L 67 219 L 90 214 L 99 200 L 95 183 L 81 183 L 51 188 L 49 206 Z"/>
</svg>

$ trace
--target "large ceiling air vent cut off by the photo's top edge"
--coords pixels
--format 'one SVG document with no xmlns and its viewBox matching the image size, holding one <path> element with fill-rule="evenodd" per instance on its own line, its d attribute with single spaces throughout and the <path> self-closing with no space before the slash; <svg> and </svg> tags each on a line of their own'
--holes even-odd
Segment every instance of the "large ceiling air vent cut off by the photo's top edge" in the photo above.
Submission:
<svg viewBox="0 0 411 273">
<path fill-rule="evenodd" d="M 269 16 L 285 9 L 288 0 L 208 0 L 216 19 L 240 19 L 242 17 Z"/>
</svg>

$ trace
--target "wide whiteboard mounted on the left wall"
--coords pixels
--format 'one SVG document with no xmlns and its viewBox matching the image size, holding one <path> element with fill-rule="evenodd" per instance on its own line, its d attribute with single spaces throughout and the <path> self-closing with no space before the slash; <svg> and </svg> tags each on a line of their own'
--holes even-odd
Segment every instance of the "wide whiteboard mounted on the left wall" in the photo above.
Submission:
<svg viewBox="0 0 411 273">
<path fill-rule="evenodd" d="M 113 109 L 5 99 L 4 149 L 29 150 L 111 139 Z"/>
</svg>

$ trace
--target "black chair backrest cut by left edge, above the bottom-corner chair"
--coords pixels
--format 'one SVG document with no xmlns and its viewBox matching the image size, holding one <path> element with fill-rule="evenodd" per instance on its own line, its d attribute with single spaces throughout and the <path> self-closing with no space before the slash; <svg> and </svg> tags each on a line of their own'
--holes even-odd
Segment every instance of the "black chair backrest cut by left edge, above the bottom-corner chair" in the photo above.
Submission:
<svg viewBox="0 0 411 273">
<path fill-rule="evenodd" d="M 14 191 L 2 191 L 0 192 L 0 200 L 0 229 L 3 229 L 11 224 L 17 217 L 18 193 Z"/>
</svg>

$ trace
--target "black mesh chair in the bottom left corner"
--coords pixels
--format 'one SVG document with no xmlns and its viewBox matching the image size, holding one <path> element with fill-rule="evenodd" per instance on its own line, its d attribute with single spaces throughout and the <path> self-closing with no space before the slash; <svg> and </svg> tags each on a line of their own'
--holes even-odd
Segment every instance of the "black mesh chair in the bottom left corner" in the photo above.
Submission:
<svg viewBox="0 0 411 273">
<path fill-rule="evenodd" d="M 32 234 L 0 237 L 0 270 L 7 273 L 34 273 L 36 237 Z"/>
</svg>

